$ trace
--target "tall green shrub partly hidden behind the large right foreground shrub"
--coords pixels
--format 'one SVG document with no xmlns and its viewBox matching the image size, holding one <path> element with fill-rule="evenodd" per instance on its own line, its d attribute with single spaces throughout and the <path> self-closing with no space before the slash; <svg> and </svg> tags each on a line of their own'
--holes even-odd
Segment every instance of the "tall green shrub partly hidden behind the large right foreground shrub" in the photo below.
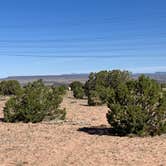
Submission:
<svg viewBox="0 0 166 166">
<path fill-rule="evenodd" d="M 116 89 L 120 83 L 124 83 L 129 79 L 130 73 L 127 71 L 113 70 L 91 73 L 89 80 L 84 86 L 89 105 L 107 103 L 109 93 L 112 93 L 112 89 Z"/>
</svg>

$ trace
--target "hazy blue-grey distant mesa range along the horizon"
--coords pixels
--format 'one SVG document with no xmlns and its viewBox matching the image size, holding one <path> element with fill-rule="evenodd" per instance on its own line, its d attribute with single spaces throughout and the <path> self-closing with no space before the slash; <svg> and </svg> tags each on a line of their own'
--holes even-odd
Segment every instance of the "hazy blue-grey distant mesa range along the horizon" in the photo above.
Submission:
<svg viewBox="0 0 166 166">
<path fill-rule="evenodd" d="M 166 83 L 166 72 L 144 73 L 146 76 L 157 80 L 161 83 Z M 133 74 L 133 78 L 138 78 L 141 75 Z M 42 79 L 46 85 L 66 85 L 73 81 L 81 81 L 82 83 L 88 80 L 89 74 L 64 74 L 64 75 L 43 75 L 43 76 L 13 76 L 1 80 L 18 80 L 22 85 L 38 79 Z"/>
</svg>

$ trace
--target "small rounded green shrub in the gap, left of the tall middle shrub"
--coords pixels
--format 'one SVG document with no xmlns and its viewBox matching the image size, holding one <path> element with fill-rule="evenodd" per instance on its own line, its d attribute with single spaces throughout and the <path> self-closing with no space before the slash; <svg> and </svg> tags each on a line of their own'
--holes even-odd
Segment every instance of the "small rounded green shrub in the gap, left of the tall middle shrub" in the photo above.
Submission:
<svg viewBox="0 0 166 166">
<path fill-rule="evenodd" d="M 83 99 L 85 93 L 84 93 L 84 85 L 81 82 L 74 81 L 70 84 L 70 87 L 76 99 Z"/>
</svg>

